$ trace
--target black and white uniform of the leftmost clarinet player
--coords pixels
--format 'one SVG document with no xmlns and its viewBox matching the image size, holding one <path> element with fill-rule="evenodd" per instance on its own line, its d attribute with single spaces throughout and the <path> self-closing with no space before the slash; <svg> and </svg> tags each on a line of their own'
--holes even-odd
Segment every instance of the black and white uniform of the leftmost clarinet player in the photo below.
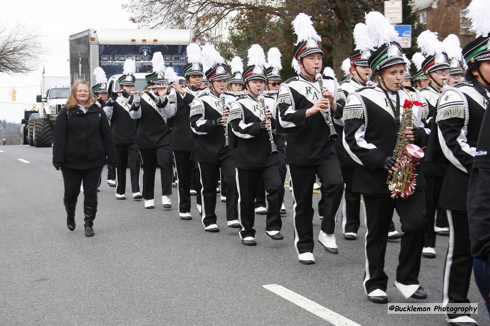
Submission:
<svg viewBox="0 0 490 326">
<path fill-rule="evenodd" d="M 221 99 L 210 89 L 201 92 L 191 103 L 191 129 L 196 134 L 192 158 L 199 167 L 202 185 L 201 221 L 204 227 L 216 224 L 217 221 L 216 185 L 220 168 L 223 174 L 221 182 L 226 183 L 226 220 L 238 220 L 235 150 L 224 148 L 224 127 L 217 121 L 221 116 Z"/>
</svg>

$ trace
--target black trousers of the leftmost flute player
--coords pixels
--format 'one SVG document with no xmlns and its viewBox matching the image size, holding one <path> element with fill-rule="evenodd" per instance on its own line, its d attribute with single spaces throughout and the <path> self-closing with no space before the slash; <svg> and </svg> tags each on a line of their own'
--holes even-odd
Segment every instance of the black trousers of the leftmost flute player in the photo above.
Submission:
<svg viewBox="0 0 490 326">
<path fill-rule="evenodd" d="M 129 174 L 131 176 L 131 191 L 137 193 L 140 191 L 140 152 L 131 145 L 116 145 L 119 164 L 116 168 L 117 186 L 116 194 L 124 195 L 126 193 L 126 169 L 129 162 Z"/>
</svg>

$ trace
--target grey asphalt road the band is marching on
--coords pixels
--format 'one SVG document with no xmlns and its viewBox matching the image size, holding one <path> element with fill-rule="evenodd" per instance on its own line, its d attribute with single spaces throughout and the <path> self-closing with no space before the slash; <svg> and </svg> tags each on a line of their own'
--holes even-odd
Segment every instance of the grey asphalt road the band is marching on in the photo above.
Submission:
<svg viewBox="0 0 490 326">
<path fill-rule="evenodd" d="M 387 305 L 368 301 L 362 288 L 363 226 L 359 240 L 346 241 L 339 225 L 338 255 L 317 244 L 316 264 L 299 264 L 289 191 L 285 240 L 266 236 L 265 219 L 257 216 L 258 245 L 245 247 L 237 230 L 226 227 L 224 203 L 217 205 L 220 232 L 207 233 L 197 217 L 195 197 L 193 220 L 182 221 L 175 188 L 172 210 L 164 210 L 159 200 L 155 209 L 148 210 L 142 201 L 116 200 L 104 171 L 96 235 L 86 238 L 82 197 L 76 229 L 66 227 L 63 181 L 51 165 L 51 149 L 1 146 L 0 150 L 1 326 L 332 325 L 265 289 L 266 284 L 279 284 L 362 326 L 447 325 L 444 315 L 387 314 Z M 159 195 L 155 191 L 155 197 Z M 314 207 L 318 200 L 314 195 Z M 395 224 L 399 229 L 397 218 Z M 318 214 L 314 229 L 318 234 Z M 386 253 L 390 302 L 441 302 L 447 238 L 438 237 L 435 259 L 422 258 L 425 301 L 406 300 L 391 285 L 399 247 L 389 243 Z M 480 306 L 474 319 L 490 325 L 473 281 L 468 297 Z"/>
</svg>

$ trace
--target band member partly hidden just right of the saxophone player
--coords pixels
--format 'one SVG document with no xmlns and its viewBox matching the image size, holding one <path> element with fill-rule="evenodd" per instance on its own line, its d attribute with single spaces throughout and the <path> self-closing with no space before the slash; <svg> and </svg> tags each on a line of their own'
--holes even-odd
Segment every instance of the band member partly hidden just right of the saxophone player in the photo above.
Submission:
<svg viewBox="0 0 490 326">
<path fill-rule="evenodd" d="M 437 100 L 441 96 L 442 87 L 449 81 L 449 64 L 446 54 L 443 52 L 441 41 L 438 40 L 436 33 L 429 30 L 423 31 L 417 38 L 417 44 L 422 50 L 425 60 L 422 62 L 422 71 L 427 76 L 429 86 L 419 89 L 420 94 L 425 98 L 429 105 L 429 111 L 424 113 L 427 126 L 431 128 L 436 115 Z M 434 147 L 434 149 L 432 149 Z M 439 148 L 437 132 L 431 133 L 427 150 Z M 440 153 L 441 151 L 438 150 Z M 444 156 L 441 153 L 441 158 Z M 447 232 L 448 228 L 443 228 L 444 221 L 447 221 L 445 210 L 439 205 L 442 180 L 446 171 L 447 161 L 439 159 L 437 162 L 430 162 L 426 159 L 422 162 L 424 166 L 424 179 L 427 183 L 425 188 L 425 209 L 427 212 L 427 234 L 425 235 L 422 256 L 425 258 L 436 257 L 436 230 L 434 220 L 437 221 L 437 231 Z M 439 209 L 438 209 L 439 208 Z M 445 223 L 447 225 L 447 223 Z M 444 233 L 442 233 L 444 234 Z"/>
</svg>

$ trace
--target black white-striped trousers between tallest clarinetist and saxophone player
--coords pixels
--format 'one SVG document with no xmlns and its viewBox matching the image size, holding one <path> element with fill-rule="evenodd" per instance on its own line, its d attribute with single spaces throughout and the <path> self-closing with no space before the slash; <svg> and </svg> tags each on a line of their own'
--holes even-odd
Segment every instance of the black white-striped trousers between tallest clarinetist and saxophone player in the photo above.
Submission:
<svg viewBox="0 0 490 326">
<path fill-rule="evenodd" d="M 342 202 L 342 232 L 357 233 L 359 230 L 361 209 L 361 195 L 352 192 L 354 168 L 341 167 L 342 179 L 345 183 Z"/>
</svg>

